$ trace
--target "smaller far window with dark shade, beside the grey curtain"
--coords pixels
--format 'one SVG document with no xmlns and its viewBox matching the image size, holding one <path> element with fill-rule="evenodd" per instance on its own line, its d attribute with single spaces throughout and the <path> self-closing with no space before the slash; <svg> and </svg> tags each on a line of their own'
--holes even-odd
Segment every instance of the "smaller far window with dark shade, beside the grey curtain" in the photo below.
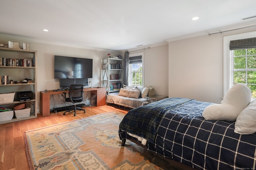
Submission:
<svg viewBox="0 0 256 170">
<path fill-rule="evenodd" d="M 128 85 L 143 87 L 144 53 L 129 55 Z"/>
</svg>

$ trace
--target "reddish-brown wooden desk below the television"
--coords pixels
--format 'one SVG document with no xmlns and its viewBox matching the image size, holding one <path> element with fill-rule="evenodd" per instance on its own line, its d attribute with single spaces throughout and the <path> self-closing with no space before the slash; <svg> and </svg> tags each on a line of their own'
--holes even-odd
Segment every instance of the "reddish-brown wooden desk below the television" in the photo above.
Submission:
<svg viewBox="0 0 256 170">
<path fill-rule="evenodd" d="M 91 99 L 95 100 L 96 106 L 106 105 L 106 88 L 84 88 L 84 92 L 91 92 Z M 68 90 L 62 91 L 53 91 L 48 90 L 47 92 L 40 92 L 40 113 L 42 117 L 50 116 L 50 95 L 52 94 L 61 94 L 63 92 L 68 93 Z"/>
</svg>

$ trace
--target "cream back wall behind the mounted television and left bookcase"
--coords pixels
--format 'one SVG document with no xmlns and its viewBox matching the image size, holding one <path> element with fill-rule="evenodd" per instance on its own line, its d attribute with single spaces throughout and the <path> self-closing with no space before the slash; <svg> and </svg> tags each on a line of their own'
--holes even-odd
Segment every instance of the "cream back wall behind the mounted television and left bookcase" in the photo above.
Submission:
<svg viewBox="0 0 256 170">
<path fill-rule="evenodd" d="M 107 57 L 107 54 L 111 55 L 122 55 L 114 51 L 96 51 L 88 49 L 78 49 L 74 47 L 64 47 L 58 45 L 49 45 L 45 43 L 29 42 L 24 39 L 12 38 L 12 37 L 1 37 L 0 44 L 8 44 L 8 41 L 30 43 L 30 49 L 37 51 L 37 93 L 38 93 L 38 108 L 40 101 L 40 91 L 54 90 L 60 88 L 59 79 L 54 79 L 54 55 L 62 55 L 68 57 L 81 57 L 93 59 L 93 78 L 92 86 L 102 86 L 102 59 Z M 18 74 L 18 73 L 17 73 Z M 20 80 L 26 77 L 20 77 Z M 59 99 L 62 102 L 61 99 Z M 58 105 L 58 97 L 54 97 L 54 101 L 51 104 Z"/>
</svg>

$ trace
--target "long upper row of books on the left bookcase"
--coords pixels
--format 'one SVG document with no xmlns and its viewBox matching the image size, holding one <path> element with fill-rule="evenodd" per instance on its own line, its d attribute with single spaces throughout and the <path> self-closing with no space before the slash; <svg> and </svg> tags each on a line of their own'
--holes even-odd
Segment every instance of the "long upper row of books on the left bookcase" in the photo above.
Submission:
<svg viewBox="0 0 256 170">
<path fill-rule="evenodd" d="M 20 66 L 20 67 L 34 67 L 35 61 L 33 59 L 6 59 L 0 57 L 0 66 Z"/>
</svg>

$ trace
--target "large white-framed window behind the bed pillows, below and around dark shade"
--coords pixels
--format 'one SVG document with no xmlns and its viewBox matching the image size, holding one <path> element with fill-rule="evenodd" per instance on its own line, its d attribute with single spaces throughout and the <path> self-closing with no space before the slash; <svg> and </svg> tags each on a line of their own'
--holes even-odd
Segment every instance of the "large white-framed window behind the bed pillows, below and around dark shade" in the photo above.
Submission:
<svg viewBox="0 0 256 170">
<path fill-rule="evenodd" d="M 224 37 L 224 57 L 223 57 L 223 95 L 233 86 L 233 82 L 247 84 L 252 89 L 253 97 L 256 98 L 256 53 L 255 49 L 230 50 L 230 42 L 235 40 L 250 39 L 256 37 L 256 31 L 238 35 Z"/>
</svg>

